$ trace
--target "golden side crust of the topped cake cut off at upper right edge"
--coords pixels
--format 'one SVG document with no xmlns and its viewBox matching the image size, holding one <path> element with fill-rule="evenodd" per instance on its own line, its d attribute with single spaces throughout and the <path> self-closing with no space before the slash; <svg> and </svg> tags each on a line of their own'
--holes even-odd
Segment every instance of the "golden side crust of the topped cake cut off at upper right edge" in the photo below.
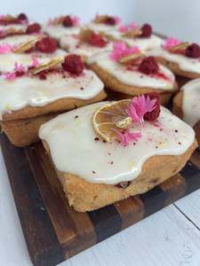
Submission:
<svg viewBox="0 0 200 266">
<path fill-rule="evenodd" d="M 177 63 L 174 63 L 161 57 L 156 57 L 156 59 L 164 66 L 168 67 L 174 74 L 179 74 L 181 76 L 188 77 L 189 79 L 197 79 L 200 77 L 200 74 L 180 69 L 180 66 Z"/>
</svg>

